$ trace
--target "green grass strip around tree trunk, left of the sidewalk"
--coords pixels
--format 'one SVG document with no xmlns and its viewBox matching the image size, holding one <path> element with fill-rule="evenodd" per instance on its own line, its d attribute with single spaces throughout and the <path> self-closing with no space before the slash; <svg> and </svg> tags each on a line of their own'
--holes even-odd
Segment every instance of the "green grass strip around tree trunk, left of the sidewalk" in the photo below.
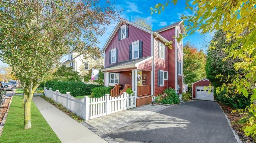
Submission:
<svg viewBox="0 0 256 143">
<path fill-rule="evenodd" d="M 13 96 L 0 143 L 56 143 L 61 142 L 36 105 L 31 103 L 31 129 L 23 129 L 22 96 Z"/>
</svg>

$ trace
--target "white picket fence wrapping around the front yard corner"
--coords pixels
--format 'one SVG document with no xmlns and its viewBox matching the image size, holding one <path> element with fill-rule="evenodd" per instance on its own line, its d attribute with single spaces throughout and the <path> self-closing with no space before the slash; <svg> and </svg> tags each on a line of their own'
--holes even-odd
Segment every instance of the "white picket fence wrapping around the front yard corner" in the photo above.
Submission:
<svg viewBox="0 0 256 143">
<path fill-rule="evenodd" d="M 85 120 L 94 119 L 109 115 L 118 111 L 136 107 L 137 92 L 127 94 L 124 92 L 118 97 L 111 97 L 109 94 L 100 98 L 74 98 L 69 92 L 62 94 L 59 90 L 52 91 L 45 87 L 44 93 L 46 97 L 54 99 L 61 103 L 69 111 Z"/>
</svg>

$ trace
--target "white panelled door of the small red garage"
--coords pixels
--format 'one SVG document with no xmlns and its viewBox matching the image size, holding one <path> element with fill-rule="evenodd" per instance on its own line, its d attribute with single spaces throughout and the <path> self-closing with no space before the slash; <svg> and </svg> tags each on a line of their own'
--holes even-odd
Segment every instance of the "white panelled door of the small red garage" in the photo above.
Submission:
<svg viewBox="0 0 256 143">
<path fill-rule="evenodd" d="M 196 99 L 213 101 L 213 90 L 211 90 L 210 93 L 208 94 L 209 88 L 205 91 L 203 89 L 204 86 L 196 86 Z"/>
</svg>

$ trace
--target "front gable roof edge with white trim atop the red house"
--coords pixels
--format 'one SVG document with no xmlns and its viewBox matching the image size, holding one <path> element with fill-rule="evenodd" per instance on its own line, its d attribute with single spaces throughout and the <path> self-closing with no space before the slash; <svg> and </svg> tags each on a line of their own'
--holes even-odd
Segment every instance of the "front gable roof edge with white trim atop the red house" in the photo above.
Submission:
<svg viewBox="0 0 256 143">
<path fill-rule="evenodd" d="M 169 42 L 166 38 L 164 38 L 163 36 L 161 36 L 161 35 L 158 34 L 157 32 L 154 32 L 154 31 L 149 30 L 149 29 L 147 29 L 147 28 L 145 28 L 145 27 L 143 27 L 143 26 L 140 26 L 140 25 L 138 25 L 138 24 L 132 23 L 132 22 L 130 22 L 130 21 L 128 21 L 128 20 L 125 20 L 125 19 L 122 19 L 122 18 L 121 18 L 121 19 L 119 20 L 119 22 L 116 24 L 116 26 L 115 26 L 114 30 L 112 31 L 112 33 L 110 34 L 110 36 L 108 37 L 108 39 L 107 39 L 105 45 L 103 46 L 103 48 L 102 48 L 102 51 L 103 51 L 103 52 L 105 52 L 107 46 L 109 45 L 109 43 L 110 43 L 111 40 L 113 39 L 115 33 L 117 32 L 117 30 L 118 30 L 119 27 L 121 26 L 122 22 L 127 23 L 127 24 L 130 24 L 130 25 L 132 25 L 132 26 L 134 26 L 134 27 L 136 27 L 136 28 L 139 28 L 139 29 L 141 29 L 141 30 L 143 30 L 143 31 L 145 31 L 145 32 L 148 32 L 148 33 L 150 33 L 150 34 L 154 34 L 155 36 L 158 35 L 158 38 L 159 38 L 160 40 L 162 40 L 163 42 Z"/>
</svg>

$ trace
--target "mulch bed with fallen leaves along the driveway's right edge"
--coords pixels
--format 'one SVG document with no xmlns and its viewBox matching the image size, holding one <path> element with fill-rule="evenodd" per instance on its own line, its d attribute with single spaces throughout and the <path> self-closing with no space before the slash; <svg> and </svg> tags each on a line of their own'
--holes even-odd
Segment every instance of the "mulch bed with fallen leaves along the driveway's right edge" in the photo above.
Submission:
<svg viewBox="0 0 256 143">
<path fill-rule="evenodd" d="M 230 107 L 228 107 L 224 104 L 221 104 L 221 103 L 219 103 L 219 105 L 221 106 L 221 108 L 225 112 L 225 114 L 227 115 L 228 119 L 231 121 L 232 129 L 234 129 L 236 131 L 236 133 L 238 134 L 241 141 L 244 143 L 255 143 L 256 141 L 251 136 L 245 136 L 244 132 L 241 130 L 242 125 L 235 123 L 235 122 L 237 122 L 238 119 L 243 118 L 244 115 L 241 113 L 231 113 L 231 111 L 233 109 L 231 109 Z"/>
</svg>

